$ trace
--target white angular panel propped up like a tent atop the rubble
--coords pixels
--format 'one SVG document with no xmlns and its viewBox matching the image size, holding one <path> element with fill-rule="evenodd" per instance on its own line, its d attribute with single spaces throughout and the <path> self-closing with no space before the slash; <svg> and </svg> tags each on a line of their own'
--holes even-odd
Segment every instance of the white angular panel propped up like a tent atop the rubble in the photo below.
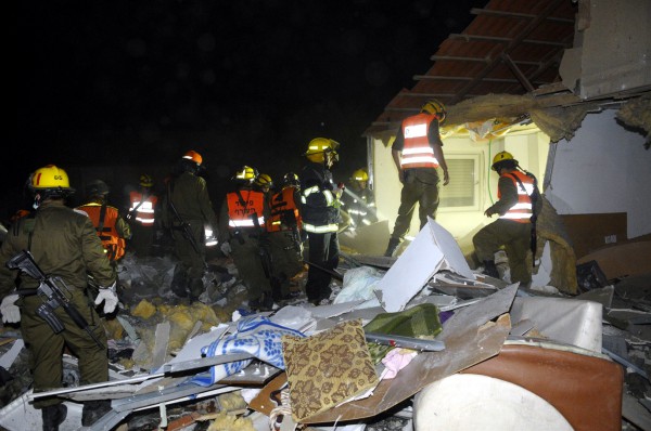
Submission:
<svg viewBox="0 0 651 431">
<path fill-rule="evenodd" d="M 475 279 L 455 238 L 434 219 L 429 219 L 378 283 L 375 295 L 388 313 L 401 311 L 439 270 L 449 270 Z"/>
</svg>

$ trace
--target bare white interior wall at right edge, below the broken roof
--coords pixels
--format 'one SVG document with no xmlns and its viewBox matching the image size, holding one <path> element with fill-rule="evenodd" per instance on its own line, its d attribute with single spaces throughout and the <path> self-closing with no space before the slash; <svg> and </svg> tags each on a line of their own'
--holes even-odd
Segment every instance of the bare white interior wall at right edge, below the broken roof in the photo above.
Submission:
<svg viewBox="0 0 651 431">
<path fill-rule="evenodd" d="M 651 233 L 651 151 L 615 114 L 588 114 L 571 141 L 556 144 L 546 196 L 560 214 L 627 212 L 635 238 Z"/>
</svg>

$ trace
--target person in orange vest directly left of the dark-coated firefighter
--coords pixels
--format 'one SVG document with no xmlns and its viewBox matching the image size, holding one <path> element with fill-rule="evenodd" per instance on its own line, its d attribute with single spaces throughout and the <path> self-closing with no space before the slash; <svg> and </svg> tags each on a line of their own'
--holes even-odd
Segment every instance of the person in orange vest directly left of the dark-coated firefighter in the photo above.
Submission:
<svg viewBox="0 0 651 431">
<path fill-rule="evenodd" d="M 281 190 L 271 196 L 267 222 L 273 262 L 271 288 L 276 301 L 301 293 L 299 289 L 292 289 L 291 283 L 304 269 L 299 205 L 301 182 L 298 175 L 289 172 L 283 177 Z"/>
</svg>

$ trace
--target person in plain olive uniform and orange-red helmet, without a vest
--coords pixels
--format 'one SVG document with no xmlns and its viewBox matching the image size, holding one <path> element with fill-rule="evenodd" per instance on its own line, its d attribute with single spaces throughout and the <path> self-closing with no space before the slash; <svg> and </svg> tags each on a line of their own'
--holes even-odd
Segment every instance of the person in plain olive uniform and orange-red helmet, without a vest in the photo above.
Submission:
<svg viewBox="0 0 651 431">
<path fill-rule="evenodd" d="M 175 254 L 180 260 L 175 267 L 171 291 L 191 301 L 204 291 L 205 231 L 215 232 L 218 226 L 206 180 L 200 177 L 202 162 L 203 158 L 193 149 L 177 161 L 167 181 L 161 211 L 163 225 L 171 230 Z"/>
</svg>

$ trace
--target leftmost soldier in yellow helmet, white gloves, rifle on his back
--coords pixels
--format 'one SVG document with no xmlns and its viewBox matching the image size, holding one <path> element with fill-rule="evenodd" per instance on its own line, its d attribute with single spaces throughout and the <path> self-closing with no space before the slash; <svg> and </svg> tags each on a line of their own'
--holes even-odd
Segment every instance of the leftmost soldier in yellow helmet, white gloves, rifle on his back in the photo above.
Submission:
<svg viewBox="0 0 651 431">
<path fill-rule="evenodd" d="M 65 170 L 54 165 L 39 168 L 29 177 L 28 188 L 34 196 L 36 210 L 16 220 L 0 247 L 2 322 L 21 323 L 23 339 L 30 355 L 34 392 L 62 387 L 64 347 L 79 361 L 80 384 L 107 381 L 106 332 L 85 289 L 89 273 L 101 286 L 95 304 L 103 302 L 103 311 L 113 312 L 118 301 L 115 295 L 115 269 L 107 259 L 91 220 L 86 213 L 65 206 L 65 199 L 75 192 Z M 53 314 L 64 326 L 64 330 L 59 334 L 54 334 L 50 325 L 39 316 L 37 310 L 43 304 L 43 299 L 36 293 L 39 280 L 28 275 L 17 276 L 15 271 L 7 267 L 7 262 L 23 250 L 31 253 L 46 275 L 55 275 L 63 280 L 71 306 L 88 323 L 87 328 L 102 347 L 62 306 L 53 310 Z M 34 402 L 34 406 L 41 409 L 43 430 L 58 430 L 64 421 L 67 409 L 61 403 L 62 399 L 58 397 L 43 397 Z M 85 402 L 81 425 L 91 426 L 110 409 L 111 401 Z"/>
</svg>

